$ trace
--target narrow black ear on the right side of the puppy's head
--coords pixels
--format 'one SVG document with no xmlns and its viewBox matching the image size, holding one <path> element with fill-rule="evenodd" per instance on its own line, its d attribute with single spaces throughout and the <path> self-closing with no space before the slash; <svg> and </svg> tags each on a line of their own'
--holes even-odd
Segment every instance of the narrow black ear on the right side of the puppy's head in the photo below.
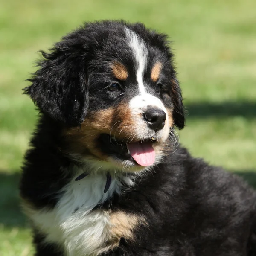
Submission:
<svg viewBox="0 0 256 256">
<path fill-rule="evenodd" d="M 182 129 L 185 126 L 185 111 L 183 106 L 180 85 L 176 78 L 172 79 L 171 96 L 173 103 L 172 118 L 177 128 Z"/>
</svg>

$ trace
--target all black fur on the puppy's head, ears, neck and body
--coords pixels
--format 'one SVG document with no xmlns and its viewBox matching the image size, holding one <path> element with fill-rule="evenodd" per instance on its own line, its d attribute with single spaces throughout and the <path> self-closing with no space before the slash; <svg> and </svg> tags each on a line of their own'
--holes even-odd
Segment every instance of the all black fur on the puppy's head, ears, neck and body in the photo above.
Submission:
<svg viewBox="0 0 256 256">
<path fill-rule="evenodd" d="M 20 183 L 22 198 L 35 209 L 54 208 L 59 192 L 73 175 L 68 170 L 81 165 L 65 154 L 69 144 L 62 131 L 79 126 L 87 113 L 116 106 L 134 96 L 135 76 L 120 81 L 124 95 L 105 90 L 111 80 L 109 61 L 122 61 L 129 73 L 135 73 L 124 26 L 143 38 L 150 60 L 158 56 L 162 61 L 163 90 L 154 91 L 148 76 L 152 66 L 145 74 L 148 90 L 166 108 L 173 109 L 174 124 L 184 127 L 181 90 L 166 36 L 145 29 L 141 23 L 86 24 L 55 44 L 50 53 L 42 52 L 44 59 L 29 79 L 32 85 L 24 89 L 41 113 Z M 148 225 L 134 231 L 135 241 L 121 239 L 119 247 L 107 255 L 256 255 L 256 194 L 241 178 L 209 166 L 179 147 L 135 183 L 129 192 L 114 195 L 97 209 L 143 214 Z M 38 228 L 34 232 L 37 256 L 64 256 L 57 245 L 43 242 L 44 234 Z"/>
</svg>

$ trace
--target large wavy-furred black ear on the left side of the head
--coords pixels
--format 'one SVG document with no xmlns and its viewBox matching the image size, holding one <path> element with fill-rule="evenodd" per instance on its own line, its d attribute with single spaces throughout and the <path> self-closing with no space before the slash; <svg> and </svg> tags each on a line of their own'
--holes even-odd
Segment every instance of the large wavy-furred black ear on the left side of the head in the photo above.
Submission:
<svg viewBox="0 0 256 256">
<path fill-rule="evenodd" d="M 84 120 L 88 107 L 86 54 L 70 45 L 61 41 L 50 53 L 41 51 L 40 68 L 27 79 L 32 85 L 23 90 L 42 113 L 76 126 Z"/>
</svg>

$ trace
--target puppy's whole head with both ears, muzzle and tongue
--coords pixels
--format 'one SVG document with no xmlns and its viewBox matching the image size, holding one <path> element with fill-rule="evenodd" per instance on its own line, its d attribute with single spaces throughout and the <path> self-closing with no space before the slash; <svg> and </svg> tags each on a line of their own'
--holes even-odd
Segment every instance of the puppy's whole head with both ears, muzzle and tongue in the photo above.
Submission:
<svg viewBox="0 0 256 256">
<path fill-rule="evenodd" d="M 71 156 L 138 171 L 159 162 L 172 145 L 174 125 L 183 128 L 165 35 L 140 23 L 91 23 L 43 56 L 25 92 L 63 123 Z"/>
</svg>

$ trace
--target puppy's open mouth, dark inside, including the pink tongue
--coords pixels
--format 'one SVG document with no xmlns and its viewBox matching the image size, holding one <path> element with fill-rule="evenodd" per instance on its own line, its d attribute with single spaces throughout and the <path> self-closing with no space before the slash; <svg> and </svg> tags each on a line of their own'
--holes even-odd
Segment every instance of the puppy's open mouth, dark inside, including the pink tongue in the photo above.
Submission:
<svg viewBox="0 0 256 256">
<path fill-rule="evenodd" d="M 153 144 L 157 143 L 157 140 L 154 137 L 130 142 L 109 134 L 101 134 L 98 142 L 104 153 L 119 160 L 129 160 L 134 165 L 150 166 L 155 161 Z"/>
</svg>

